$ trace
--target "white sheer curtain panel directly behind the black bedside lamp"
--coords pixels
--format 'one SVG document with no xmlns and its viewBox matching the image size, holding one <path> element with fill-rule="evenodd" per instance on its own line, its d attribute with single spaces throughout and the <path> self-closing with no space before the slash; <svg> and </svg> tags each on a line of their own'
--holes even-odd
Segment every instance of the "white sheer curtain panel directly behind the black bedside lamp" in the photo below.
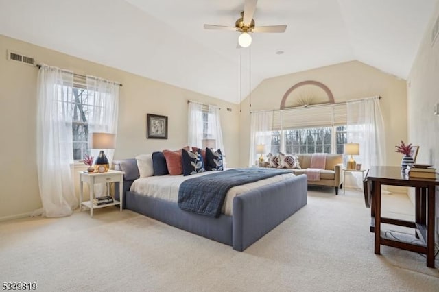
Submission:
<svg viewBox="0 0 439 292">
<path fill-rule="evenodd" d="M 88 101 L 92 105 L 88 114 L 89 137 L 91 133 L 104 132 L 117 134 L 117 119 L 119 114 L 119 84 L 95 76 L 86 76 Z M 112 162 L 115 149 L 91 149 L 95 158 L 100 150 L 104 150 L 108 162 Z M 104 195 L 105 184 L 95 184 L 97 197 Z"/>
</svg>

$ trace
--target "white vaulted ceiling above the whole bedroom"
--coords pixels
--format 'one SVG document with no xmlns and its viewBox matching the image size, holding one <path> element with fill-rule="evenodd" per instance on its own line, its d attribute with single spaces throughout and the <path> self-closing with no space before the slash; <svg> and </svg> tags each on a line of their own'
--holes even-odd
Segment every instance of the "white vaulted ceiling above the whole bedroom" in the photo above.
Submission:
<svg viewBox="0 0 439 292">
<path fill-rule="evenodd" d="M 0 34 L 238 103 L 262 80 L 358 60 L 403 79 L 438 0 L 259 0 L 237 49 L 244 0 L 0 0 Z M 280 53 L 280 52 L 283 53 Z"/>
</svg>

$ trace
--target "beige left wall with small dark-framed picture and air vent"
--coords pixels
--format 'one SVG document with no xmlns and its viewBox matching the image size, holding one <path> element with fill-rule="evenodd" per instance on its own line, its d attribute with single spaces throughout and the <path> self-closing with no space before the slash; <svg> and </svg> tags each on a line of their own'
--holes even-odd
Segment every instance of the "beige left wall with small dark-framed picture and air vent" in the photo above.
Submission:
<svg viewBox="0 0 439 292">
<path fill-rule="evenodd" d="M 187 145 L 187 100 L 192 99 L 221 107 L 227 166 L 237 166 L 237 105 L 0 35 L 0 219 L 25 215 L 41 206 L 35 134 L 38 69 L 8 61 L 8 49 L 34 57 L 38 63 L 123 84 L 115 159 Z M 226 108 L 232 108 L 232 112 Z M 146 138 L 147 113 L 168 116 L 167 140 Z"/>
</svg>

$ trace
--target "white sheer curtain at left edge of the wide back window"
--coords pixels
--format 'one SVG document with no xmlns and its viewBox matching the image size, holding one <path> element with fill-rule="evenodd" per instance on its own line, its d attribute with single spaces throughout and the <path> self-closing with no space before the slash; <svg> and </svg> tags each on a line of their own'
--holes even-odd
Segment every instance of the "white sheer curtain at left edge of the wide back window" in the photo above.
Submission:
<svg viewBox="0 0 439 292">
<path fill-rule="evenodd" d="M 250 119 L 250 158 L 248 165 L 252 166 L 258 160 L 256 145 L 265 145 L 265 154 L 270 153 L 272 145 L 273 111 L 252 112 Z"/>
</svg>

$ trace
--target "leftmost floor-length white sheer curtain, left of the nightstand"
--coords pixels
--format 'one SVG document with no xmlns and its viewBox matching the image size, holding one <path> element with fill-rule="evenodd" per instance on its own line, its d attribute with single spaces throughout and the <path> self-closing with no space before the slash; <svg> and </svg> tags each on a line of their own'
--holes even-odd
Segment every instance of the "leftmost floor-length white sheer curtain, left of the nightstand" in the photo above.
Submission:
<svg viewBox="0 0 439 292">
<path fill-rule="evenodd" d="M 73 73 L 42 65 L 38 71 L 36 151 L 43 208 L 34 215 L 62 217 L 78 206 L 71 165 Z"/>
</svg>

